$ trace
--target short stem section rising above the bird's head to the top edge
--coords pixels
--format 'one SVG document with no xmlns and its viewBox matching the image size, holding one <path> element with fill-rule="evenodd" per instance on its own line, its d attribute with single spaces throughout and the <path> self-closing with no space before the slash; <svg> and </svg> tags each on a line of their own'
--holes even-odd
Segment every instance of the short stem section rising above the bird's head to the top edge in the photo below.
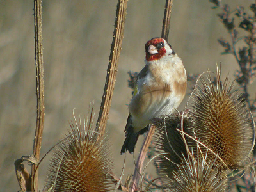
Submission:
<svg viewBox="0 0 256 192">
<path fill-rule="evenodd" d="M 166 0 L 161 37 L 168 41 L 173 0 Z"/>
</svg>

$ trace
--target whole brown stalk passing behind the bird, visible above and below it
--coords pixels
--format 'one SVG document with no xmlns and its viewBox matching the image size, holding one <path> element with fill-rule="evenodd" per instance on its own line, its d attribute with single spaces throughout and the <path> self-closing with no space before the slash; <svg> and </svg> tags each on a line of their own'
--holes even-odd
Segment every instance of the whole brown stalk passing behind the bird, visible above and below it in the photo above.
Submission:
<svg viewBox="0 0 256 192">
<path fill-rule="evenodd" d="M 166 0 L 165 8 L 164 8 L 162 35 L 161 35 L 161 37 L 164 38 L 165 40 L 168 40 L 168 35 L 169 35 L 172 4 L 173 4 L 173 0 Z M 155 128 L 156 127 L 154 125 L 150 126 L 147 136 L 145 137 L 145 140 L 143 141 L 143 145 L 140 150 L 140 155 L 138 157 L 136 167 L 134 170 L 134 175 L 132 177 L 132 183 L 130 186 L 131 192 L 138 191 L 138 182 L 140 180 L 143 163 L 144 163 L 145 157 L 147 155 L 148 147 L 149 147 L 152 137 L 154 135 Z"/>
</svg>

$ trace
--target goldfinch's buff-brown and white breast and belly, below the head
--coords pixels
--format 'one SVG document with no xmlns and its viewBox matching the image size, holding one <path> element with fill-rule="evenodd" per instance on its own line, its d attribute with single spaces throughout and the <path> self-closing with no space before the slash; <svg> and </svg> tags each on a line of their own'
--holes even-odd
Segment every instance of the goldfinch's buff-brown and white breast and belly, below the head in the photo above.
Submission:
<svg viewBox="0 0 256 192">
<path fill-rule="evenodd" d="M 154 108 L 163 108 L 168 102 L 172 102 L 170 108 L 177 108 L 186 94 L 186 70 L 182 61 L 170 65 L 150 63 L 146 66 L 147 73 L 138 79 L 138 93 L 129 104 L 129 110 L 136 118 L 142 118 L 149 111 L 154 113 Z"/>
</svg>

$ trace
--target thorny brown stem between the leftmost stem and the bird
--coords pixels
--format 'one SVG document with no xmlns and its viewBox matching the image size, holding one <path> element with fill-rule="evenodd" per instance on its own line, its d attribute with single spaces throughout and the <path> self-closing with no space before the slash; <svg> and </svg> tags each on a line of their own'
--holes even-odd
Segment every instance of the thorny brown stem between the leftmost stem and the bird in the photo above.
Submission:
<svg viewBox="0 0 256 192">
<path fill-rule="evenodd" d="M 127 1 L 128 0 L 118 0 L 117 3 L 115 29 L 109 56 L 106 83 L 96 126 L 96 131 L 99 131 L 100 135 L 102 135 L 105 131 L 112 95 L 115 87 L 118 60 L 124 37 L 124 22 L 127 10 Z"/>
</svg>

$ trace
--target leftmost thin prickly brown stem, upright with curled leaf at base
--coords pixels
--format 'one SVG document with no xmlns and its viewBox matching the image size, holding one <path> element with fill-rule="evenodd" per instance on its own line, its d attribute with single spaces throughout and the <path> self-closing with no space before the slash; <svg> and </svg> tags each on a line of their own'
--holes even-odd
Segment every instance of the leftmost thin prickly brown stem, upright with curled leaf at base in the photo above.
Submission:
<svg viewBox="0 0 256 192">
<path fill-rule="evenodd" d="M 41 142 L 42 142 L 42 133 L 44 129 L 44 66 L 43 66 L 43 46 L 42 46 L 42 0 L 34 0 L 34 21 L 35 21 L 37 116 L 36 116 L 36 131 L 35 131 L 33 155 L 36 157 L 36 159 L 39 159 Z M 35 169 L 36 169 L 36 165 L 33 164 L 31 177 L 35 178 L 35 180 L 32 180 L 32 186 L 34 186 L 34 189 L 38 191 L 38 172 L 35 173 Z"/>
</svg>

